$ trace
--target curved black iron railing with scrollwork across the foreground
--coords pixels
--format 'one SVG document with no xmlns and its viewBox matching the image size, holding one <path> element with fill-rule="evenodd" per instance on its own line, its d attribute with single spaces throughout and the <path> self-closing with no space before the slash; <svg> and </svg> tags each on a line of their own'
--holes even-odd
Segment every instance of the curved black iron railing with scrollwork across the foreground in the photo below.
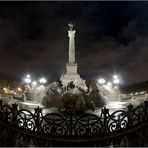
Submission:
<svg viewBox="0 0 148 148">
<path fill-rule="evenodd" d="M 0 146 L 134 146 L 136 136 L 142 137 L 139 146 L 148 146 L 147 127 L 147 101 L 113 113 L 103 108 L 100 115 L 78 115 L 19 110 L 0 100 Z"/>
</svg>

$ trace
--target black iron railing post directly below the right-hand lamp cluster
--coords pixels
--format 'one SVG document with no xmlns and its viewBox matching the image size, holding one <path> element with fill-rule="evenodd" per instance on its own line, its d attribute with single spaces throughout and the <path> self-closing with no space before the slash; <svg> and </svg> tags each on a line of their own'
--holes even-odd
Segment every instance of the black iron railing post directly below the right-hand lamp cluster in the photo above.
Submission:
<svg viewBox="0 0 148 148">
<path fill-rule="evenodd" d="M 102 133 L 108 132 L 108 118 L 109 118 L 109 109 L 104 107 L 101 110 L 101 118 L 102 118 Z"/>
</svg>

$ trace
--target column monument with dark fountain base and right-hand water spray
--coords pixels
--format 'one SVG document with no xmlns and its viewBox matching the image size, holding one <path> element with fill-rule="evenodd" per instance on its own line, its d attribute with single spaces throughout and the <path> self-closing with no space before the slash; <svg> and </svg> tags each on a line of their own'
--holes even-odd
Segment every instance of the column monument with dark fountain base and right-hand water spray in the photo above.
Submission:
<svg viewBox="0 0 148 148">
<path fill-rule="evenodd" d="M 45 89 L 41 104 L 45 107 L 72 108 L 73 110 L 94 110 L 105 106 L 106 102 L 117 101 L 119 87 L 105 86 L 96 83 L 86 85 L 77 72 L 75 60 L 75 33 L 74 25 L 68 24 L 69 59 L 66 64 L 66 74 L 62 74 L 58 82 L 52 82 Z"/>
</svg>

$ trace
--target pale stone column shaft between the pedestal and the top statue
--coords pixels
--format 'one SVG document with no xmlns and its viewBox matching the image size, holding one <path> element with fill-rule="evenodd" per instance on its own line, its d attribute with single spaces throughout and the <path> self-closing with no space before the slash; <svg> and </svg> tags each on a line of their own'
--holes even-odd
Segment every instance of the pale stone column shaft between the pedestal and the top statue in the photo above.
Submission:
<svg viewBox="0 0 148 148">
<path fill-rule="evenodd" d="M 69 37 L 69 63 L 75 63 L 75 30 L 68 31 Z"/>
</svg>

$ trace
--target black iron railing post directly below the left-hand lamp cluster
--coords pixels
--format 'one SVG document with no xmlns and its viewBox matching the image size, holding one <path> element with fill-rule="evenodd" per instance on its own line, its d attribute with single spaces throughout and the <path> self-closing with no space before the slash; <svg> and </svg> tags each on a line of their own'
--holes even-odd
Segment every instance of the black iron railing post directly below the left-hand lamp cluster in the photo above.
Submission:
<svg viewBox="0 0 148 148">
<path fill-rule="evenodd" d="M 35 108 L 35 125 L 37 128 L 37 132 L 40 132 L 40 114 L 42 112 L 42 109 L 39 108 Z"/>
</svg>

